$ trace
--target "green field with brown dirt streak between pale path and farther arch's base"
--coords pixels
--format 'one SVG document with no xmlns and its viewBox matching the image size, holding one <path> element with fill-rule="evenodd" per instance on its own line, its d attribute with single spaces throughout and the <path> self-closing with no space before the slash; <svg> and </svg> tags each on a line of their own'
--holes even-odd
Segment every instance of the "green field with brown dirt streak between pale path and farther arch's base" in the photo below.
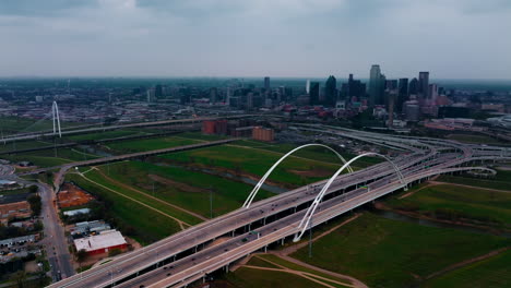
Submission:
<svg viewBox="0 0 511 288">
<path fill-rule="evenodd" d="M 107 167 L 100 168 L 107 173 Z M 153 181 L 148 176 L 155 175 L 174 182 L 189 185 L 191 191 L 186 191 L 176 184 L 166 184 Z M 198 171 L 190 171 L 180 167 L 162 167 L 152 163 L 124 161 L 110 165 L 110 176 L 136 189 L 151 191 L 155 184 L 155 196 L 175 205 L 192 211 L 204 217 L 210 217 L 210 188 L 213 190 L 213 216 L 219 216 L 239 208 L 252 185 L 231 181 L 225 178 L 211 176 Z M 199 189 L 199 191 L 197 191 Z M 274 195 L 261 190 L 255 201 Z"/>
</svg>

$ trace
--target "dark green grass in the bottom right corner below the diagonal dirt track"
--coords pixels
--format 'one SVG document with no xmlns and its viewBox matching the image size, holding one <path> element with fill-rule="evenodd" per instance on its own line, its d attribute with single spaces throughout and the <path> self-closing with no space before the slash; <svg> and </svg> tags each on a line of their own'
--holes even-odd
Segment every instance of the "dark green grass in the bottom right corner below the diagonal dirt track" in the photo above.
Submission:
<svg viewBox="0 0 511 288">
<path fill-rule="evenodd" d="M 424 288 L 500 288 L 511 284 L 511 250 L 449 272 L 424 284 Z"/>
</svg>

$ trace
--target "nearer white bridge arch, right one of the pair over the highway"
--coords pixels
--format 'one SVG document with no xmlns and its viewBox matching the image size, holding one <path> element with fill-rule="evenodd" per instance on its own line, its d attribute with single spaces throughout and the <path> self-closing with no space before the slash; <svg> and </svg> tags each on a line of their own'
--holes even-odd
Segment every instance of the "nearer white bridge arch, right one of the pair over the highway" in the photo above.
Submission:
<svg viewBox="0 0 511 288">
<path fill-rule="evenodd" d="M 321 200 L 323 200 L 323 196 L 324 194 L 326 193 L 326 190 L 329 190 L 330 185 L 333 183 L 333 181 L 335 180 L 335 178 L 337 178 L 337 176 L 341 175 L 341 172 L 343 172 L 344 169 L 346 169 L 346 167 L 348 167 L 349 164 L 354 163 L 355 160 L 357 160 L 358 158 L 361 158 L 361 157 L 365 157 L 365 156 L 369 156 L 369 155 L 375 155 L 375 156 L 379 156 L 379 157 L 382 157 L 384 158 L 387 161 L 389 161 L 390 164 L 392 164 L 392 167 L 394 168 L 395 172 L 397 173 L 397 178 L 400 179 L 401 183 L 403 183 L 403 187 L 405 188 L 405 190 L 407 190 L 407 187 L 406 187 L 406 183 L 404 181 L 404 177 L 403 177 L 403 173 L 401 173 L 400 169 L 397 168 L 397 166 L 391 161 L 391 159 L 389 159 L 388 157 L 381 155 L 381 154 L 378 154 L 378 153 L 372 153 L 372 152 L 369 152 L 369 153 L 364 153 L 361 155 L 358 155 L 356 157 L 353 157 L 349 161 L 347 161 L 343 167 L 341 167 L 330 179 L 329 181 L 323 185 L 323 189 L 321 189 L 321 192 L 316 196 L 314 201 L 312 202 L 312 205 L 310 205 L 310 207 L 307 209 L 307 213 L 304 215 L 304 218 L 301 219 L 300 224 L 298 225 L 298 229 L 301 229 L 299 232 L 297 232 L 295 235 L 295 239 L 293 239 L 294 242 L 297 242 L 300 240 L 300 238 L 304 236 L 304 233 L 306 232 L 306 229 L 307 227 L 309 226 L 309 223 L 310 223 L 310 219 L 312 218 L 312 215 L 314 214 L 316 212 L 316 208 L 318 208 Z"/>
</svg>

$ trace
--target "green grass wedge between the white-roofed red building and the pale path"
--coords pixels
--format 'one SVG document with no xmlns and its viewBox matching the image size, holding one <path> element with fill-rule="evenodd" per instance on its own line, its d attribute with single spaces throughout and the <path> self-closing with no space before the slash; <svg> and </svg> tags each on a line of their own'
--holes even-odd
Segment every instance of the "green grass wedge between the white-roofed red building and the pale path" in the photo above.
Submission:
<svg viewBox="0 0 511 288">
<path fill-rule="evenodd" d="M 109 208 L 108 212 L 115 217 L 114 220 L 105 220 L 116 225 L 127 236 L 134 238 L 140 243 L 148 244 L 181 230 L 178 223 L 171 218 L 96 185 L 79 175 L 69 173 L 66 179 L 98 196 L 99 201 L 105 201 Z"/>
</svg>

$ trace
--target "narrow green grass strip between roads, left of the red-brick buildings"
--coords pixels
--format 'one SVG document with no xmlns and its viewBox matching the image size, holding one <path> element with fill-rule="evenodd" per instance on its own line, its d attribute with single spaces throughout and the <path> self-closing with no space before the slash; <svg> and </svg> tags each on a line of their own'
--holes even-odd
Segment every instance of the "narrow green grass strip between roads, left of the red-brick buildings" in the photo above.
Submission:
<svg viewBox="0 0 511 288">
<path fill-rule="evenodd" d="M 109 143 L 110 149 L 121 153 L 135 153 L 153 149 L 163 149 L 170 147 L 185 146 L 190 144 L 200 143 L 195 140 L 178 139 L 178 137 L 157 137 L 157 139 L 143 139 L 143 140 L 129 140 Z"/>
</svg>

